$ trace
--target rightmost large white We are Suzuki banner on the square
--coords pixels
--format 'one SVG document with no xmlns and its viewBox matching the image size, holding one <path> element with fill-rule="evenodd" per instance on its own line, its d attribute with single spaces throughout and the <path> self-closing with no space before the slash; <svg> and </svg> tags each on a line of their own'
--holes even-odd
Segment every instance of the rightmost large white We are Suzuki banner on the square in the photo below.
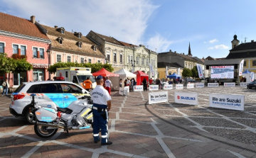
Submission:
<svg viewBox="0 0 256 158">
<path fill-rule="evenodd" d="M 209 106 L 244 111 L 245 96 L 230 94 L 209 94 Z"/>
</svg>

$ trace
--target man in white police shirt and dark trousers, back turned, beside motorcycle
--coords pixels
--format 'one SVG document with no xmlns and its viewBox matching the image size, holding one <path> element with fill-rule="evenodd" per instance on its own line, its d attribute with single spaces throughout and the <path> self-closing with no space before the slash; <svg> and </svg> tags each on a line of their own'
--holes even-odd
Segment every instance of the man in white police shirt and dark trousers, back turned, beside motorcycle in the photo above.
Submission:
<svg viewBox="0 0 256 158">
<path fill-rule="evenodd" d="M 108 135 L 108 112 L 111 108 L 111 97 L 106 89 L 103 88 L 104 81 L 102 76 L 96 78 L 97 86 L 92 90 L 92 117 L 93 117 L 93 139 L 94 142 L 100 142 L 101 129 L 101 145 L 112 145 Z"/>
</svg>

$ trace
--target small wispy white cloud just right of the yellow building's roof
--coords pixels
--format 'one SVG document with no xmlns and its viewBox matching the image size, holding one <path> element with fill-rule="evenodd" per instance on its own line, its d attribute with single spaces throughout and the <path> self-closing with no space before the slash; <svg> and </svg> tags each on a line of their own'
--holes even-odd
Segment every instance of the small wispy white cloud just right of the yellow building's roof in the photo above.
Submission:
<svg viewBox="0 0 256 158">
<path fill-rule="evenodd" d="M 161 36 L 159 33 L 156 33 L 153 37 L 149 38 L 149 40 L 146 42 L 146 45 L 149 46 L 149 50 L 153 50 L 156 52 L 165 52 L 168 50 L 168 47 L 172 44 L 176 43 L 173 40 L 167 40 L 163 36 Z"/>
</svg>

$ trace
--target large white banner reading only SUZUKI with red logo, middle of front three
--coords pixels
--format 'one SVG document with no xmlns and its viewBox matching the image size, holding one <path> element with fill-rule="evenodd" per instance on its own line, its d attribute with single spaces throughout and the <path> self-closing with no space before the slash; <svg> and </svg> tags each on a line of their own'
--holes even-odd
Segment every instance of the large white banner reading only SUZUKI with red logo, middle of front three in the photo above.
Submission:
<svg viewBox="0 0 256 158">
<path fill-rule="evenodd" d="M 174 93 L 175 103 L 198 105 L 198 93 L 178 92 Z"/>
</svg>

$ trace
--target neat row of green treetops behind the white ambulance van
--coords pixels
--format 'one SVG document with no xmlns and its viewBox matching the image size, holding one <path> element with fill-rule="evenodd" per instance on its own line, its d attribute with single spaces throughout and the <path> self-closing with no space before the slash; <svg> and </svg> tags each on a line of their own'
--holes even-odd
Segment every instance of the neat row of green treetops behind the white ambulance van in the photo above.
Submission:
<svg viewBox="0 0 256 158">
<path fill-rule="evenodd" d="M 53 65 L 50 65 L 50 68 L 48 69 L 48 71 L 51 74 L 54 74 L 57 71 L 57 68 L 59 67 L 90 67 L 92 69 L 92 73 L 99 71 L 100 69 L 102 69 L 102 67 L 107 69 L 107 71 L 109 72 L 112 72 L 114 70 L 111 64 L 102 64 L 102 63 L 91 64 L 89 62 L 83 63 L 83 64 L 78 62 L 58 62 Z"/>
</svg>

